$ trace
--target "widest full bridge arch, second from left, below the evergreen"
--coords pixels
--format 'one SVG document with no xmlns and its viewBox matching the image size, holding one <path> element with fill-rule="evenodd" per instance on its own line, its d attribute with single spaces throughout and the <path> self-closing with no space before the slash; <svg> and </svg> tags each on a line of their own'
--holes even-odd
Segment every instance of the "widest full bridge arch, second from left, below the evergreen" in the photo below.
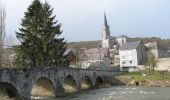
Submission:
<svg viewBox="0 0 170 100">
<path fill-rule="evenodd" d="M 41 77 L 35 81 L 31 90 L 32 97 L 55 97 L 55 87 L 52 81 L 46 77 Z"/>
</svg>

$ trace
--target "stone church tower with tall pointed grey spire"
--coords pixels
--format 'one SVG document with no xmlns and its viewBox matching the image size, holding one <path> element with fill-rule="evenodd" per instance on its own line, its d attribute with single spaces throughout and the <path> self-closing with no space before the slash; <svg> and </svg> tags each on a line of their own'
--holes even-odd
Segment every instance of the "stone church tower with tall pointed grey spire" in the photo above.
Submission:
<svg viewBox="0 0 170 100">
<path fill-rule="evenodd" d="M 102 47 L 110 49 L 110 30 L 107 24 L 106 14 L 104 13 L 104 26 L 102 29 Z"/>
</svg>

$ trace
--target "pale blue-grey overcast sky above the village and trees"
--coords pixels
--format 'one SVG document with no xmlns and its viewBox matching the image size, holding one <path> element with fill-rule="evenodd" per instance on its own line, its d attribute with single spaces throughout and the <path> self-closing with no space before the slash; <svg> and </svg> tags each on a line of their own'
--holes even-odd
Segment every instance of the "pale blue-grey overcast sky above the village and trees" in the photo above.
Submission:
<svg viewBox="0 0 170 100">
<path fill-rule="evenodd" d="M 45 1 L 45 0 L 41 0 Z M 170 38 L 170 0 L 47 0 L 67 41 L 101 39 L 106 12 L 112 36 Z M 32 0 L 4 0 L 6 32 L 15 37 Z"/>
</svg>

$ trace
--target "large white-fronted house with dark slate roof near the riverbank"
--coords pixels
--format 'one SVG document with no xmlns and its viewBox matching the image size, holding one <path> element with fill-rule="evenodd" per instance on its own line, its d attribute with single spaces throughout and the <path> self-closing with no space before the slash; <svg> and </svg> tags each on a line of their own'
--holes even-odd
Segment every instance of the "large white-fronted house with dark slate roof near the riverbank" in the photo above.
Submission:
<svg viewBox="0 0 170 100">
<path fill-rule="evenodd" d="M 145 47 L 141 41 L 125 43 L 120 47 L 119 57 L 121 71 L 136 71 L 144 63 Z"/>
</svg>

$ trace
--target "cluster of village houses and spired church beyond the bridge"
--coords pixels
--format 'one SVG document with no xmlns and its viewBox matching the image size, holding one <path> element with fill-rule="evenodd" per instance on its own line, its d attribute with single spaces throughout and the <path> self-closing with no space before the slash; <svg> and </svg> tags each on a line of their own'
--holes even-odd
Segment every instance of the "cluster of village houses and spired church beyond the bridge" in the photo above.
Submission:
<svg viewBox="0 0 170 100">
<path fill-rule="evenodd" d="M 66 50 L 65 55 L 70 67 L 133 72 L 146 69 L 147 57 L 153 55 L 155 70 L 170 70 L 170 48 L 166 45 L 157 41 L 128 42 L 127 35 L 111 36 L 106 14 L 101 33 L 102 39 L 96 47 L 70 47 Z"/>
</svg>

